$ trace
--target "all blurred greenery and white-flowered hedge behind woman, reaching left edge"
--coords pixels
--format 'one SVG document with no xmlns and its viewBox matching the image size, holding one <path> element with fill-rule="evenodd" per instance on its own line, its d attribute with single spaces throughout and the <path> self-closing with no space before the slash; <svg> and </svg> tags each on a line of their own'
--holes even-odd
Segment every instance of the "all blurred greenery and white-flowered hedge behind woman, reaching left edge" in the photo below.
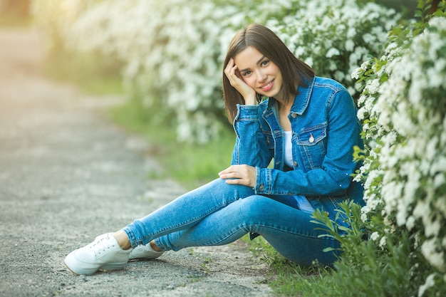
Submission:
<svg viewBox="0 0 446 297">
<path fill-rule="evenodd" d="M 130 103 L 156 110 L 147 125 L 169 125 L 178 141 L 204 144 L 232 130 L 224 115 L 221 64 L 235 31 L 250 22 L 268 24 L 317 75 L 341 81 L 357 98 L 351 71 L 366 56 L 377 56 L 389 27 L 416 8 L 415 0 L 375 2 L 380 5 L 316 0 L 309 8 L 301 0 L 0 0 L 0 17 L 9 24 L 32 17 L 46 41 L 52 78 L 91 93 L 125 93 Z M 328 18 L 330 30 L 311 31 L 330 10 L 341 11 L 343 19 Z M 373 18 L 359 17 L 361 11 Z M 365 32 L 374 37 L 364 40 Z M 315 34 L 319 41 L 306 40 Z M 349 47 L 346 41 L 352 41 Z"/>
</svg>

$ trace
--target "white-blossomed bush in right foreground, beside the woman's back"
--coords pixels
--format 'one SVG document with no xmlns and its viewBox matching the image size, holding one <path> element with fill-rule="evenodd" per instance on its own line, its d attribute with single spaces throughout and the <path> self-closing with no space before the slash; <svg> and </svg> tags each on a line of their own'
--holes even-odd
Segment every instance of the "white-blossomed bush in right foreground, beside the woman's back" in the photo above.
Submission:
<svg viewBox="0 0 446 297">
<path fill-rule="evenodd" d="M 359 100 L 365 138 L 377 142 L 362 170 L 363 210 L 381 209 L 389 230 L 418 233 L 422 255 L 445 275 L 446 18 L 433 17 L 408 44 L 388 46 Z"/>
</svg>

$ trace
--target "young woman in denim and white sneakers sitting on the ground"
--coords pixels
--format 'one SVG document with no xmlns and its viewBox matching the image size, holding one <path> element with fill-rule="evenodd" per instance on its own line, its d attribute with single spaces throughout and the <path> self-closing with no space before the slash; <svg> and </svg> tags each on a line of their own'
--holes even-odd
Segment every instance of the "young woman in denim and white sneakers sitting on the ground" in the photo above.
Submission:
<svg viewBox="0 0 446 297">
<path fill-rule="evenodd" d="M 66 256 L 68 269 L 92 274 L 129 259 L 155 259 L 189 246 L 229 244 L 261 235 L 297 264 L 330 265 L 338 242 L 320 237 L 311 213 L 335 219 L 338 203 L 363 203 L 353 146 L 362 146 L 346 88 L 315 77 L 268 28 L 251 24 L 232 39 L 223 73 L 234 123 L 232 165 L 219 178 Z M 265 100 L 261 100 L 266 98 Z M 272 168 L 269 166 L 274 160 Z M 338 218 L 337 224 L 345 222 Z"/>
</svg>

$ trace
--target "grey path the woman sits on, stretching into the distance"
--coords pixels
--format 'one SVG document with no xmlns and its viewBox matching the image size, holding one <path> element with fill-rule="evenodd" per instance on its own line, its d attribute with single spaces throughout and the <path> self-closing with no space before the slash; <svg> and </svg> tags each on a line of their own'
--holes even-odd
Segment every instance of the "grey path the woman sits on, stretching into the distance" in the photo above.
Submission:
<svg viewBox="0 0 446 297">
<path fill-rule="evenodd" d="M 243 242 L 169 252 L 122 271 L 76 276 L 73 249 L 152 212 L 184 190 L 150 179 L 147 144 L 92 98 L 41 75 L 28 29 L 0 30 L 0 296 L 270 296 L 267 266 Z"/>
</svg>

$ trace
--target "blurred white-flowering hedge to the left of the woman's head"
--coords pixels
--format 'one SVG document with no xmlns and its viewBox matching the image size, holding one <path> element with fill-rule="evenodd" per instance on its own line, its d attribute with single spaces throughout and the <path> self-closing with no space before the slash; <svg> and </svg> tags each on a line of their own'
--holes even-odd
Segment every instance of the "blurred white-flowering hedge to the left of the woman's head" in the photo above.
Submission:
<svg viewBox="0 0 446 297">
<path fill-rule="evenodd" d="M 263 14 L 242 13 L 257 2 Z M 292 2 L 102 1 L 78 17 L 66 44 L 118 56 L 130 93 L 175 116 L 180 140 L 206 142 L 226 123 L 221 64 L 230 38 L 249 19 L 264 22 Z"/>
</svg>

